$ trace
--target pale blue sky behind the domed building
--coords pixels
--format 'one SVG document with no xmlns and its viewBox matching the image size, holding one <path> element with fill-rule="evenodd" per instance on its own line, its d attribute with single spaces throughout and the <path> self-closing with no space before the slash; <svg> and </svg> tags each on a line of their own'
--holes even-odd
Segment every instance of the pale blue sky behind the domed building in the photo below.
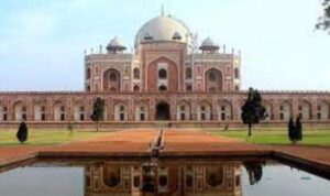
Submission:
<svg viewBox="0 0 330 196">
<path fill-rule="evenodd" d="M 114 35 L 131 48 L 162 3 L 199 41 L 242 51 L 243 88 L 330 89 L 330 35 L 314 31 L 319 0 L 3 0 L 0 90 L 82 89 L 84 50 Z"/>
</svg>

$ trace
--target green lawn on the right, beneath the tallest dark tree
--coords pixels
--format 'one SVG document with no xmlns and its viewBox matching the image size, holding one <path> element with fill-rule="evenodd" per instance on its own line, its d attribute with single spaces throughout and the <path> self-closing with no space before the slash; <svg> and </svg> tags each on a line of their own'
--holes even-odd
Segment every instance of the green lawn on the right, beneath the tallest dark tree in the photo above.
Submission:
<svg viewBox="0 0 330 196">
<path fill-rule="evenodd" d="M 224 135 L 237 138 L 241 141 L 257 143 L 257 144 L 289 144 L 287 130 L 270 129 L 270 130 L 253 130 L 252 137 L 248 137 L 246 130 L 233 131 L 210 131 L 216 135 Z M 304 130 L 302 141 L 300 144 L 330 145 L 330 130 Z"/>
</svg>

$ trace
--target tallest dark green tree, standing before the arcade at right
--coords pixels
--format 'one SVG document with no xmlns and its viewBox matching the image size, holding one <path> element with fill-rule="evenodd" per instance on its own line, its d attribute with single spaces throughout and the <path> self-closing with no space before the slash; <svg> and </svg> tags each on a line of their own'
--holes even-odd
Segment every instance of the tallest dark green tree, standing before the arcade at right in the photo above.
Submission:
<svg viewBox="0 0 330 196">
<path fill-rule="evenodd" d="M 248 99 L 242 107 L 241 113 L 243 123 L 249 127 L 249 137 L 252 135 L 252 124 L 260 123 L 267 117 L 266 109 L 262 105 L 262 97 L 260 92 L 253 88 L 249 88 Z"/>
</svg>

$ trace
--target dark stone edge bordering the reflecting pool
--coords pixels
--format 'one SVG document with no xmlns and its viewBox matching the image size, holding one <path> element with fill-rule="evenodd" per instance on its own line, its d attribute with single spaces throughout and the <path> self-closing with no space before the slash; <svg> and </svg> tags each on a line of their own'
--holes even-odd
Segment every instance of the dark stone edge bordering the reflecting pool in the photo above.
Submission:
<svg viewBox="0 0 330 196">
<path fill-rule="evenodd" d="M 0 161 L 0 173 L 14 168 L 18 165 L 25 165 L 37 159 L 150 159 L 153 157 L 151 152 L 141 153 L 107 153 L 107 152 L 52 152 L 37 151 L 21 154 L 15 157 L 4 159 Z M 226 159 L 226 160 L 255 160 L 257 157 L 273 159 L 275 161 L 306 168 L 307 172 L 316 173 L 317 175 L 329 178 L 330 164 L 319 162 L 311 159 L 300 157 L 278 150 L 258 150 L 258 151 L 238 151 L 238 152 L 176 152 L 158 154 L 160 159 Z"/>
</svg>

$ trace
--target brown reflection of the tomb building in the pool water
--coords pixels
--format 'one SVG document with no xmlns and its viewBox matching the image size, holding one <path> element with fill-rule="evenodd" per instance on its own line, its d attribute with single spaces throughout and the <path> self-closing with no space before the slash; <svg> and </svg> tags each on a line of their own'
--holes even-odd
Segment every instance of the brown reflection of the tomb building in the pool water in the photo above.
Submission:
<svg viewBox="0 0 330 196">
<path fill-rule="evenodd" d="M 106 161 L 85 165 L 86 196 L 241 196 L 240 161 Z M 250 166 L 254 165 L 250 163 Z M 253 176 L 253 168 L 251 174 Z"/>
</svg>

